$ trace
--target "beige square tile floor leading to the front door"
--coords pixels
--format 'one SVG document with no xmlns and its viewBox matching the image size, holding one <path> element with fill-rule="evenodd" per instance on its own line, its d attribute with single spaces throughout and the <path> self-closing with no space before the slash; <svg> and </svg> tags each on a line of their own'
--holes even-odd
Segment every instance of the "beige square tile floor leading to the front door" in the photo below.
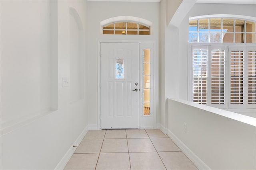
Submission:
<svg viewBox="0 0 256 170">
<path fill-rule="evenodd" d="M 198 170 L 159 129 L 88 131 L 65 170 Z"/>
</svg>

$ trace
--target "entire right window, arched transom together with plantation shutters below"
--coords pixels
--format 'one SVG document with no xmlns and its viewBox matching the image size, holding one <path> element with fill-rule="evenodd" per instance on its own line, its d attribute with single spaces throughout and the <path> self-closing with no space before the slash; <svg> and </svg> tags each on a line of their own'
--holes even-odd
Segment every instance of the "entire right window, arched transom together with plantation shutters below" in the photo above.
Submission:
<svg viewBox="0 0 256 170">
<path fill-rule="evenodd" d="M 193 102 L 222 109 L 255 108 L 255 25 L 224 18 L 190 21 Z"/>
</svg>

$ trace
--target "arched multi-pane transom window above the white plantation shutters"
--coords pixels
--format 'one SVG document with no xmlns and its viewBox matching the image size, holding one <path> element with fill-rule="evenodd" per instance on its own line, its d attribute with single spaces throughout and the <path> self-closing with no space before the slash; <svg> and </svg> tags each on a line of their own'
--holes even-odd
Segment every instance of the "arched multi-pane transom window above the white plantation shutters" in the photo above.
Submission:
<svg viewBox="0 0 256 170">
<path fill-rule="evenodd" d="M 256 43 L 255 22 L 230 18 L 190 20 L 189 42 Z"/>
</svg>

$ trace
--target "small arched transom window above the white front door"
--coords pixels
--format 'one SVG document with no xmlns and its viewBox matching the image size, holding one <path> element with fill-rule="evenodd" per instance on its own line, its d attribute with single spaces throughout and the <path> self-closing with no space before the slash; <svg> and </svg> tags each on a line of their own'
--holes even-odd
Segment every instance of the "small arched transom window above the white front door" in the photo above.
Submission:
<svg viewBox="0 0 256 170">
<path fill-rule="evenodd" d="M 102 34 L 150 35 L 150 27 L 134 22 L 118 22 L 103 26 Z"/>
</svg>

